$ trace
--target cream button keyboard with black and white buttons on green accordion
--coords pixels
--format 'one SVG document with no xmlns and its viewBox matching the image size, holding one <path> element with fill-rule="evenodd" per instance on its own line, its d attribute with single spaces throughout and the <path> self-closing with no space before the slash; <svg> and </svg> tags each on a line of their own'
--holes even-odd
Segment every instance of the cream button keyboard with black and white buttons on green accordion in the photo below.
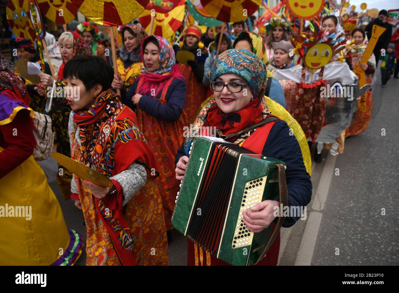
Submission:
<svg viewBox="0 0 399 293">
<path fill-rule="evenodd" d="M 266 176 L 245 183 L 245 189 L 241 198 L 241 207 L 236 222 L 236 225 L 239 227 L 239 229 L 236 229 L 234 233 L 235 236 L 231 242 L 232 248 L 252 245 L 253 235 L 249 232 L 247 226 L 241 220 L 243 211 L 246 211 L 247 208 L 249 209 L 250 207 L 253 207 L 260 201 L 259 195 L 263 194 L 264 191 L 264 186 L 262 186 L 263 180 L 266 180 Z"/>
</svg>

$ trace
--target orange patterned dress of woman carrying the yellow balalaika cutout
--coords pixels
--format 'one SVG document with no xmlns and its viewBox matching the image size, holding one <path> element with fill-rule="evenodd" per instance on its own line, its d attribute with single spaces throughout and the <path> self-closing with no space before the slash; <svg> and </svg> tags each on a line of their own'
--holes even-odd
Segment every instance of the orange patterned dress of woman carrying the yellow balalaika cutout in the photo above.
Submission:
<svg viewBox="0 0 399 293">
<path fill-rule="evenodd" d="M 363 53 L 368 45 L 367 37 L 363 41 L 363 44 L 359 46 L 354 46 L 351 50 L 352 54 L 352 66 L 356 68 L 359 66 L 359 62 Z M 375 68 L 375 56 L 371 53 L 371 57 L 369 58 L 368 65 Z M 374 83 L 375 74 L 366 74 L 367 84 L 372 85 Z M 352 124 L 346 129 L 345 136 L 348 137 L 350 135 L 357 135 L 366 130 L 367 125 L 370 122 L 371 111 L 373 109 L 373 99 L 372 93 L 368 90 L 363 96 L 360 97 L 358 102 L 358 111 L 356 111 L 355 119 Z"/>
</svg>

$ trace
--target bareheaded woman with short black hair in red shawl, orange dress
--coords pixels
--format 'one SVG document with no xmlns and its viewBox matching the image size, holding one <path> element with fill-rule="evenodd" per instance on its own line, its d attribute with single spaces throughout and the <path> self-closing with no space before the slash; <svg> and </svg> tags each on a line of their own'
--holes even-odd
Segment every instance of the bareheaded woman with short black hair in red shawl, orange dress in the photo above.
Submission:
<svg viewBox="0 0 399 293">
<path fill-rule="evenodd" d="M 95 72 L 96 74 L 93 74 Z M 64 69 L 69 90 L 71 158 L 109 177 L 105 188 L 74 177 L 75 205 L 87 228 L 88 265 L 167 265 L 156 158 L 136 115 L 112 90 L 113 70 L 98 56 L 77 56 Z M 154 249 L 152 249 L 154 248 Z M 155 252 L 155 253 L 153 253 Z"/>
</svg>

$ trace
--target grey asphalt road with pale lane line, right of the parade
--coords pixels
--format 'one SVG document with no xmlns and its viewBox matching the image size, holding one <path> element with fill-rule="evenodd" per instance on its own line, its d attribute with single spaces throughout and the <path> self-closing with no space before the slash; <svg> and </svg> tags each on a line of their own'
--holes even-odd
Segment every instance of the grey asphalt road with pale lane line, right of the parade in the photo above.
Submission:
<svg viewBox="0 0 399 293">
<path fill-rule="evenodd" d="M 398 92 L 399 79 L 381 88 L 377 70 L 366 131 L 313 163 L 308 218 L 282 229 L 279 265 L 399 264 Z"/>
</svg>

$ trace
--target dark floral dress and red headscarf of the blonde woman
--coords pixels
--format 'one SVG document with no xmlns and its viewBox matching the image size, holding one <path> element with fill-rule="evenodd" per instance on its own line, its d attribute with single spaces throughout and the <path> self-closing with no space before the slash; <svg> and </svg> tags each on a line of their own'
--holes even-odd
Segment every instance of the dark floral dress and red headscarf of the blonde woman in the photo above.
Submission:
<svg viewBox="0 0 399 293">
<path fill-rule="evenodd" d="M 76 55 L 90 55 L 91 51 L 89 47 L 85 44 L 85 41 L 81 38 L 78 33 L 73 33 L 73 56 Z M 58 76 L 55 78 L 56 89 L 59 90 L 65 86 L 64 70 L 65 62 L 62 64 L 58 70 Z M 68 135 L 68 118 L 71 112 L 71 107 L 68 105 L 67 100 L 63 98 L 63 95 L 58 95 L 53 97 L 51 103 L 51 118 L 53 123 L 54 135 L 54 145 L 57 148 L 57 152 L 64 154 L 65 156 L 71 155 L 71 148 L 69 146 L 69 135 Z M 59 189 L 61 189 L 64 199 L 69 199 L 71 197 L 71 179 L 72 173 L 67 170 L 67 168 L 58 165 L 58 168 L 62 168 L 62 173 L 57 173 L 57 183 Z"/>
</svg>

